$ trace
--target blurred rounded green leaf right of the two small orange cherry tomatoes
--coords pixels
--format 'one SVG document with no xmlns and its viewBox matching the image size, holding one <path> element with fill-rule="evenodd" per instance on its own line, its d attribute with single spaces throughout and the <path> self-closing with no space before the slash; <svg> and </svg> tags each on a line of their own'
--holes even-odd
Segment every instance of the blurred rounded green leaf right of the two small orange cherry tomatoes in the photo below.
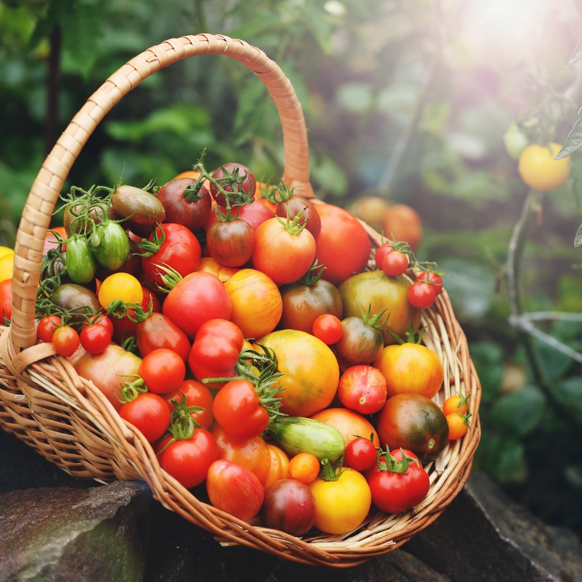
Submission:
<svg viewBox="0 0 582 582">
<path fill-rule="evenodd" d="M 537 386 L 526 386 L 503 395 L 491 409 L 491 421 L 503 434 L 523 437 L 540 424 L 546 406 Z"/>
</svg>

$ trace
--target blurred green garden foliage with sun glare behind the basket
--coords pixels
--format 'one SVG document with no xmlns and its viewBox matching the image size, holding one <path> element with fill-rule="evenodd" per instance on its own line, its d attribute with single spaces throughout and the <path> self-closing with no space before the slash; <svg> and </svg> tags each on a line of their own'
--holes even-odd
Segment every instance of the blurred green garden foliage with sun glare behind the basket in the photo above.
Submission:
<svg viewBox="0 0 582 582">
<path fill-rule="evenodd" d="M 527 139 L 565 141 L 580 106 L 580 63 L 565 68 L 580 12 L 576 3 L 542 0 L 4 0 L 0 244 L 13 242 L 51 141 L 55 26 L 58 132 L 109 74 L 150 45 L 204 31 L 243 38 L 279 63 L 303 104 L 318 197 L 349 205 L 375 194 L 423 218 L 418 254 L 451 275 L 445 287 L 482 382 L 475 466 L 546 519 L 582 528 L 582 366 L 536 342 L 549 379 L 537 385 L 508 324 L 505 265 L 527 188 L 503 144 L 512 121 Z M 207 167 L 236 159 L 260 179 L 277 179 L 281 129 L 267 97 L 232 59 L 177 63 L 113 108 L 65 187 L 112 184 L 124 164 L 126 183 L 162 184 L 204 148 Z M 580 271 L 572 268 L 580 261 L 578 152 L 572 165 L 574 180 L 544 197 L 527 240 L 520 274 L 527 311 L 582 312 Z M 582 350 L 580 321 L 539 325 Z M 550 458 L 552 469 L 540 474 Z"/>
</svg>

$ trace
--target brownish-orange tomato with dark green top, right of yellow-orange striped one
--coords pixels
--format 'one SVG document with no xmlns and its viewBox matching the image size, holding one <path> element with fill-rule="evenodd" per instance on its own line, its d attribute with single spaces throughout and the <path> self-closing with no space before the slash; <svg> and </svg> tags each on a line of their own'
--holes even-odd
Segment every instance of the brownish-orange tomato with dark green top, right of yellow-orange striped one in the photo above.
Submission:
<svg viewBox="0 0 582 582">
<path fill-rule="evenodd" d="M 279 329 L 297 329 L 313 333 L 313 323 L 320 315 L 343 314 L 342 297 L 333 283 L 320 279 L 314 285 L 292 283 L 281 287 L 283 309 Z"/>
</svg>

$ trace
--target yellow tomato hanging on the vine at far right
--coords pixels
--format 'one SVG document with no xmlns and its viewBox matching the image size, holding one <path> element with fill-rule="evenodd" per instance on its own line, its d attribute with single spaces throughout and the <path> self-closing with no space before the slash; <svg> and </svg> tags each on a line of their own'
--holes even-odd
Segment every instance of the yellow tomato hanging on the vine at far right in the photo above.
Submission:
<svg viewBox="0 0 582 582">
<path fill-rule="evenodd" d="M 562 146 L 552 141 L 549 145 L 528 145 L 519 157 L 517 170 L 521 179 L 533 190 L 545 192 L 562 186 L 570 175 L 570 156 L 555 160 Z"/>
</svg>

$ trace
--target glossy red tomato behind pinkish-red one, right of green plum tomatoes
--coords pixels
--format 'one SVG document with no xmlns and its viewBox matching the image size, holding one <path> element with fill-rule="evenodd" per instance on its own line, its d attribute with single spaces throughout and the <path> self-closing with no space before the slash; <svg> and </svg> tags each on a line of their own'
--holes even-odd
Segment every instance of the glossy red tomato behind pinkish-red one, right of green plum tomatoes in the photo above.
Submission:
<svg viewBox="0 0 582 582">
<path fill-rule="evenodd" d="M 186 226 L 181 224 L 168 223 L 158 226 L 155 233 L 158 238 L 164 232 L 164 242 L 159 245 L 159 249 L 150 257 L 141 258 L 141 268 L 158 285 L 163 285 L 161 267 L 169 267 L 179 272 L 182 277 L 193 273 L 198 268 L 200 262 L 200 243 L 198 239 Z M 149 241 L 153 242 L 153 233 Z"/>
</svg>

